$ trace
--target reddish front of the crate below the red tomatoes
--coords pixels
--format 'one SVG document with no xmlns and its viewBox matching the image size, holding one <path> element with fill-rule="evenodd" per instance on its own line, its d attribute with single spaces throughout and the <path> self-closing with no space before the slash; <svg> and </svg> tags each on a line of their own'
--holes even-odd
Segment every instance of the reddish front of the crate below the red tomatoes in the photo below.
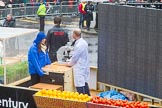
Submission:
<svg viewBox="0 0 162 108">
<path fill-rule="evenodd" d="M 87 102 L 87 108 L 121 108 L 121 107 Z"/>
</svg>

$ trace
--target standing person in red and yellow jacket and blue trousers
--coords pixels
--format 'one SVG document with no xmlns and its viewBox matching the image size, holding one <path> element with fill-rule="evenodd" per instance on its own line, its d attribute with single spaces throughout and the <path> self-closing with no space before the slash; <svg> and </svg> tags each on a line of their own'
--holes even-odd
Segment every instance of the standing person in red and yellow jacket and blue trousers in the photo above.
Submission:
<svg viewBox="0 0 162 108">
<path fill-rule="evenodd" d="M 82 1 L 78 6 L 78 10 L 80 13 L 79 28 L 84 27 L 84 19 L 85 19 L 85 14 L 86 14 L 86 11 L 84 11 L 85 5 L 86 5 L 86 2 Z"/>
</svg>

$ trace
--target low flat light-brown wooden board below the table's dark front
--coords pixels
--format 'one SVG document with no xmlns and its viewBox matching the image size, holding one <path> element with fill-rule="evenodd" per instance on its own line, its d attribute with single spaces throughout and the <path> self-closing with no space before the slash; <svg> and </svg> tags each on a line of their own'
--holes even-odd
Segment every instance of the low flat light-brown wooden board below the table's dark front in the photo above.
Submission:
<svg viewBox="0 0 162 108">
<path fill-rule="evenodd" d="M 33 86 L 30 86 L 33 89 L 52 89 L 52 90 L 63 90 L 63 86 L 61 85 L 53 85 L 53 84 L 45 84 L 45 83 L 38 83 Z"/>
</svg>

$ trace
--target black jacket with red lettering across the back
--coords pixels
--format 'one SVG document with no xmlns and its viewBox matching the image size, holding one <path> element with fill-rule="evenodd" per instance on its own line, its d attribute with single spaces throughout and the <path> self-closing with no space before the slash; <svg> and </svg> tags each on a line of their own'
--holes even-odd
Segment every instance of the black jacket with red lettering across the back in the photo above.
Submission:
<svg viewBox="0 0 162 108">
<path fill-rule="evenodd" d="M 69 42 L 67 32 L 60 26 L 54 26 L 47 33 L 47 47 L 49 53 L 56 54 L 57 50 Z"/>
</svg>

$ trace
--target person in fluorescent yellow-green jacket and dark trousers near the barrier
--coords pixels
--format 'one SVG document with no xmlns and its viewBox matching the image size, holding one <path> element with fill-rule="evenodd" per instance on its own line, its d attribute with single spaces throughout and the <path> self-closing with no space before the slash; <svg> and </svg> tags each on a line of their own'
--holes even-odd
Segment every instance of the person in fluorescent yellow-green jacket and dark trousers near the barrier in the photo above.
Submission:
<svg viewBox="0 0 162 108">
<path fill-rule="evenodd" d="M 40 18 L 40 28 L 39 31 L 44 31 L 44 25 L 45 25 L 45 16 L 46 16 L 46 6 L 43 3 L 43 0 L 40 0 L 40 6 L 37 10 L 37 15 Z"/>
</svg>

